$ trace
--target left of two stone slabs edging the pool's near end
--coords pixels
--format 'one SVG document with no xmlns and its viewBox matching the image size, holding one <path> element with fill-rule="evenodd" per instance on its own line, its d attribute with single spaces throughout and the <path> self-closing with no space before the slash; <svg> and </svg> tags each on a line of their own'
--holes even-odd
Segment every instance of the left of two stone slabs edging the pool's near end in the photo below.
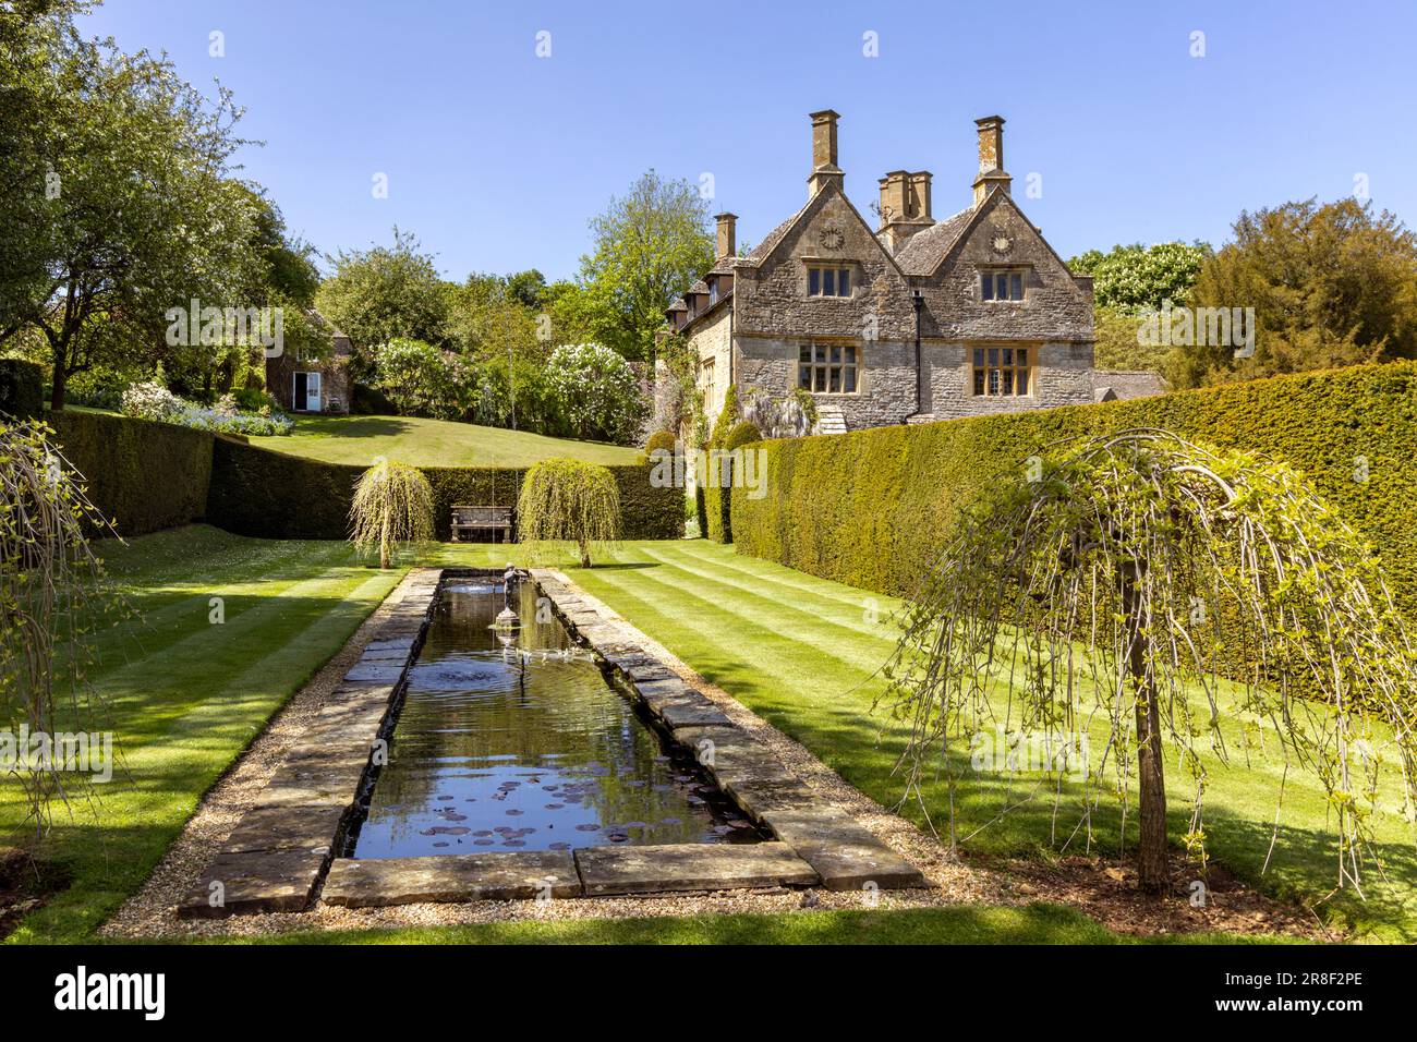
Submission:
<svg viewBox="0 0 1417 1042">
<path fill-rule="evenodd" d="M 346 907 L 422 902 L 580 897 L 581 878 L 568 851 L 434 853 L 425 858 L 336 858 L 320 899 Z"/>
</svg>

